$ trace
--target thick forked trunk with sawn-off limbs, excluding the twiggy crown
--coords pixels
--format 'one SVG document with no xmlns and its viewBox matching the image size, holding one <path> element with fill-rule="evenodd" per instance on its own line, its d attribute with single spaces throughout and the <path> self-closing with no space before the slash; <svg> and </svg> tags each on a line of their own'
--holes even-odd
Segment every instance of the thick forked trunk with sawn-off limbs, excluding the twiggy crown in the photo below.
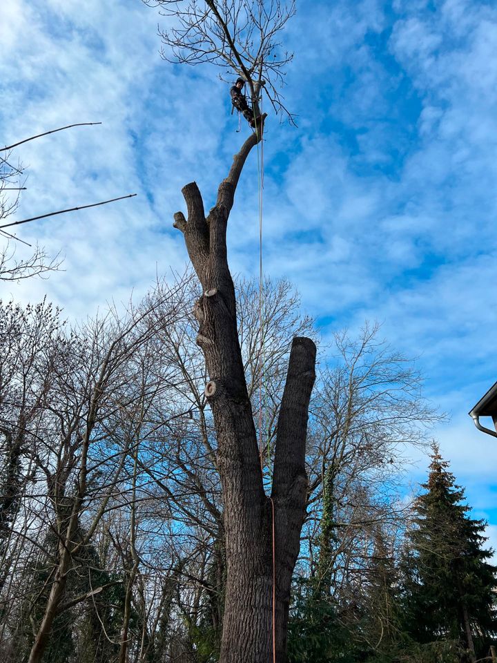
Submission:
<svg viewBox="0 0 497 663">
<path fill-rule="evenodd" d="M 261 132 L 262 133 L 262 132 Z M 175 214 L 204 294 L 195 306 L 197 343 L 211 381 L 206 396 L 217 431 L 224 499 L 226 603 L 220 663 L 268 663 L 273 656 L 273 515 L 264 494 L 257 436 L 237 333 L 235 289 L 226 257 L 228 215 L 240 173 L 261 136 L 249 137 L 220 184 L 208 217 L 195 182 L 183 195 L 188 220 Z M 286 661 L 291 575 L 305 514 L 304 465 L 315 345 L 295 338 L 277 427 L 272 500 L 275 511 L 277 663 Z"/>
</svg>

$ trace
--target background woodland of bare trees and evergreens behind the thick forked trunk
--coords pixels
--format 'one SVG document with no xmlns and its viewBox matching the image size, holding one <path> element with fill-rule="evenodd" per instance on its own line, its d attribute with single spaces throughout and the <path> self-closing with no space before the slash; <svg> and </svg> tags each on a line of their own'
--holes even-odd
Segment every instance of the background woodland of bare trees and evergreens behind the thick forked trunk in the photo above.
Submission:
<svg viewBox="0 0 497 663">
<path fill-rule="evenodd" d="M 265 477 L 289 338 L 314 334 L 287 282 L 237 285 Z M 223 613 L 222 504 L 194 292 L 160 283 L 124 317 L 70 328 L 43 302 L 1 307 L 1 657 L 27 660 L 50 602 L 43 661 L 207 663 Z M 495 568 L 438 448 L 407 499 L 406 455 L 436 416 L 376 327 L 322 347 L 289 660 L 474 661 L 496 633 Z M 256 418 L 257 419 L 257 418 Z M 427 461 L 428 462 L 428 461 Z M 77 534 L 66 539 L 71 519 Z M 50 592 L 66 576 L 64 599 Z M 476 652 L 476 657 L 473 652 Z"/>
</svg>

